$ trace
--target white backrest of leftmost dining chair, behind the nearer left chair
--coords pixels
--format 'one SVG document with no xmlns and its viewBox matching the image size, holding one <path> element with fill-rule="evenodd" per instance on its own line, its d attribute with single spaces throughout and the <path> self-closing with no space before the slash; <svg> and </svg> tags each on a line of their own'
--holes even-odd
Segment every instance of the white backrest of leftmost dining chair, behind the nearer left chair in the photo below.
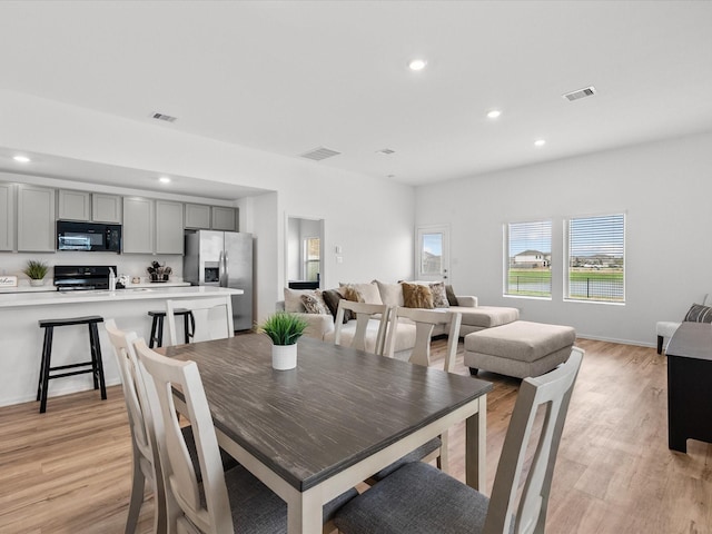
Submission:
<svg viewBox="0 0 712 534">
<path fill-rule="evenodd" d="M 105 322 L 107 334 L 121 375 L 123 399 L 128 412 L 134 448 L 134 484 L 126 532 L 135 532 L 144 502 L 145 478 L 151 483 L 155 493 L 155 532 L 165 532 L 164 481 L 158 456 L 156 422 L 150 409 L 149 392 L 142 379 L 139 362 L 134 349 L 136 333 L 120 330 L 113 319 Z"/>
</svg>

